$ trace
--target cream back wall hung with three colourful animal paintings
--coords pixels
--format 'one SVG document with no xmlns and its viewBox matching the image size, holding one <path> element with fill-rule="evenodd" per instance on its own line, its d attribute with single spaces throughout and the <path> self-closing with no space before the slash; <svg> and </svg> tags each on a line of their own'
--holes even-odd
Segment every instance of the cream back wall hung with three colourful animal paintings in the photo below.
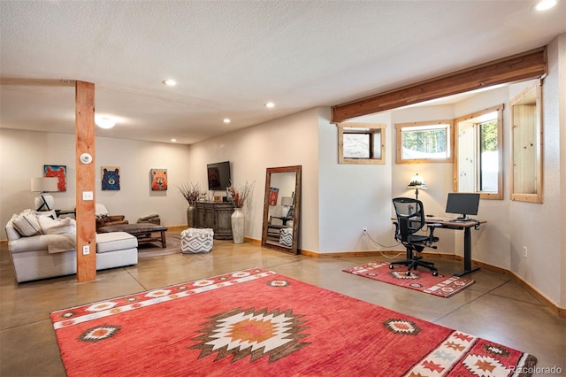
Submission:
<svg viewBox="0 0 566 377">
<path fill-rule="evenodd" d="M 66 165 L 67 190 L 52 193 L 57 209 L 75 207 L 74 135 L 0 129 L 0 222 L 13 213 L 34 207 L 37 193 L 30 191 L 30 178 L 41 177 L 43 165 Z M 112 214 L 123 214 L 130 222 L 157 213 L 162 224 L 187 224 L 185 199 L 175 185 L 187 181 L 188 147 L 160 142 L 96 138 L 96 202 Z M 119 166 L 120 190 L 102 191 L 101 166 Z M 149 170 L 166 168 L 167 191 L 151 191 Z M 0 236 L 5 239 L 5 234 Z"/>
</svg>

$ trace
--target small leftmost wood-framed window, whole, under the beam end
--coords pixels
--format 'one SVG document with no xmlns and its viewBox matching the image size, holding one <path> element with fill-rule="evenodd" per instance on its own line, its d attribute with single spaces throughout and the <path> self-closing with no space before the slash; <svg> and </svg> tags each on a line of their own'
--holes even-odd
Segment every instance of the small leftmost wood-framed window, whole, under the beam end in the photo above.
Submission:
<svg viewBox="0 0 566 377">
<path fill-rule="evenodd" d="M 340 164 L 385 164 L 386 126 L 368 123 L 338 125 Z"/>
</svg>

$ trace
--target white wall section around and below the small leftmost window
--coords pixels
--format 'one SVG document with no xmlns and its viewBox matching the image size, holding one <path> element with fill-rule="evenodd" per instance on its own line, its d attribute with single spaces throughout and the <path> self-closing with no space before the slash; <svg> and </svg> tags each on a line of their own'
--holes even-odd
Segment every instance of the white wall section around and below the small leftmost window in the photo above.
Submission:
<svg viewBox="0 0 566 377">
<path fill-rule="evenodd" d="M 388 123 L 388 116 L 364 119 Z M 386 150 L 391 148 L 391 127 L 386 128 Z M 338 129 L 330 123 L 330 111 L 318 125 L 320 253 L 376 250 L 363 237 L 363 227 L 384 245 L 394 243 L 391 232 L 391 159 L 385 165 L 338 163 Z M 379 249 L 387 249 L 381 248 Z"/>
</svg>

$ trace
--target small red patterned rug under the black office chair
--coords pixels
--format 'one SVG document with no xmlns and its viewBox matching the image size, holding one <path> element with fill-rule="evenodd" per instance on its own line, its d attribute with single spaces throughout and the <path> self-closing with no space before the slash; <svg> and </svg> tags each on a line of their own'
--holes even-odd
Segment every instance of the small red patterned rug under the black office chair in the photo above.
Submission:
<svg viewBox="0 0 566 377">
<path fill-rule="evenodd" d="M 392 270 L 387 262 L 356 265 L 355 267 L 345 268 L 343 271 L 440 297 L 453 296 L 476 282 L 457 276 L 445 276 L 440 273 L 438 276 L 432 276 L 429 270 L 411 270 L 410 275 L 407 275 L 406 265 L 394 265 Z"/>
</svg>

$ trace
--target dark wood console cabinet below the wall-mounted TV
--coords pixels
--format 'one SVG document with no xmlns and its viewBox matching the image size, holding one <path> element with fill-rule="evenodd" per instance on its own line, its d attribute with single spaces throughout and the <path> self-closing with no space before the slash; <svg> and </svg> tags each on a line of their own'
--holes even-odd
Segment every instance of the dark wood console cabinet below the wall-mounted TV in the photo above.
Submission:
<svg viewBox="0 0 566 377">
<path fill-rule="evenodd" d="M 233 204 L 196 202 L 195 227 L 210 227 L 216 240 L 232 240 Z"/>
</svg>

